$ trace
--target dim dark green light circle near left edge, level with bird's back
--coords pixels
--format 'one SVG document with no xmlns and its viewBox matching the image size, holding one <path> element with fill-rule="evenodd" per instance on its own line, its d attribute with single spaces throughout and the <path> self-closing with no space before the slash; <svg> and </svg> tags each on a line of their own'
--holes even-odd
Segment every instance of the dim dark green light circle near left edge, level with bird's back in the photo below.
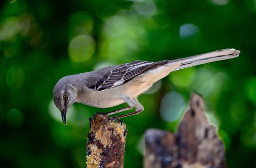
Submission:
<svg viewBox="0 0 256 168">
<path fill-rule="evenodd" d="M 6 73 L 6 84 L 12 90 L 19 90 L 24 83 L 25 73 L 22 67 L 14 65 L 10 67 Z"/>
</svg>

